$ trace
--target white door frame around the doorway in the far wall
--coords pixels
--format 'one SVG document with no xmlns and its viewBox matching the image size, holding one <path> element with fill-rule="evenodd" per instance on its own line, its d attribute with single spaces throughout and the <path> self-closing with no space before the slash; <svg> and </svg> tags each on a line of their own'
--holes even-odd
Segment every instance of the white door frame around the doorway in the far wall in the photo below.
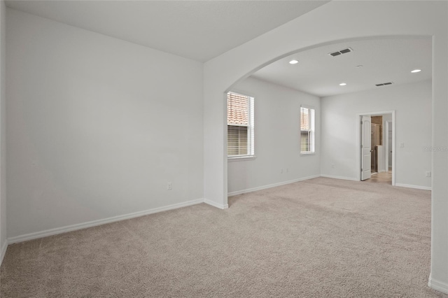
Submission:
<svg viewBox="0 0 448 298">
<path fill-rule="evenodd" d="M 361 180 L 361 117 L 384 114 L 392 114 L 392 185 L 395 185 L 395 110 L 356 114 L 356 172 L 358 181 Z"/>
</svg>

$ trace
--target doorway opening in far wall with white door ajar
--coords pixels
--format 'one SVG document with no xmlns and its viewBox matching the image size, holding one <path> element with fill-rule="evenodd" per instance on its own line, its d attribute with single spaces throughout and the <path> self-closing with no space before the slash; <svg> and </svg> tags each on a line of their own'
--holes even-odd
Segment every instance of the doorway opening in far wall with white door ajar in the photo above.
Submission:
<svg viewBox="0 0 448 298">
<path fill-rule="evenodd" d="M 395 185 L 395 111 L 358 115 L 361 181 Z"/>
</svg>

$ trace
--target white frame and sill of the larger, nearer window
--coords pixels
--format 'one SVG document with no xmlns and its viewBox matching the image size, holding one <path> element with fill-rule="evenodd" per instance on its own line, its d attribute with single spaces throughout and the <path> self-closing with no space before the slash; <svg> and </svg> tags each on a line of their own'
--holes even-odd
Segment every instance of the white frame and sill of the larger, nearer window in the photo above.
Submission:
<svg viewBox="0 0 448 298">
<path fill-rule="evenodd" d="M 228 94 L 233 93 L 243 97 L 248 98 L 248 133 L 247 133 L 247 144 L 248 144 L 248 153 L 244 155 L 227 155 L 229 162 L 235 162 L 239 160 L 250 160 L 255 159 L 255 97 L 252 94 L 244 91 L 231 90 L 229 92 L 225 92 L 225 115 L 227 119 L 228 115 Z M 229 126 L 239 126 L 239 125 L 229 125 L 227 123 L 226 132 L 228 134 Z M 241 125 L 244 126 L 244 125 Z M 229 144 L 229 136 L 227 135 L 227 146 Z M 228 150 L 227 150 L 228 151 Z"/>
</svg>

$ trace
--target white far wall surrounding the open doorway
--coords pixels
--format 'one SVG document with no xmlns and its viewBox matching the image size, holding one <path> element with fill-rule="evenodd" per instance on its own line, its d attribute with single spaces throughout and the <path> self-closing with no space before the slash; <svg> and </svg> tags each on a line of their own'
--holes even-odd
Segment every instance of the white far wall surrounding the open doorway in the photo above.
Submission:
<svg viewBox="0 0 448 298">
<path fill-rule="evenodd" d="M 395 110 L 395 184 L 430 187 L 431 105 L 430 81 L 323 97 L 321 173 L 358 178 L 356 115 Z"/>
</svg>

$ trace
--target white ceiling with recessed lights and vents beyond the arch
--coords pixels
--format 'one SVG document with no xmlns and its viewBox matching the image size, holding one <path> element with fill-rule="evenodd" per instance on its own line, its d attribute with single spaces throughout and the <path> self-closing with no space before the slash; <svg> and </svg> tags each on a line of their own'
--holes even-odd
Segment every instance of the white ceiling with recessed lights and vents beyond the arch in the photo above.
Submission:
<svg viewBox="0 0 448 298">
<path fill-rule="evenodd" d="M 352 48 L 353 52 L 332 57 L 330 52 Z M 279 59 L 253 74 L 318 97 L 387 88 L 376 84 L 415 83 L 432 78 L 430 38 L 391 38 L 325 45 Z M 291 59 L 299 63 L 289 64 Z M 363 67 L 356 67 L 363 65 Z M 411 73 L 421 69 L 419 73 Z M 346 86 L 339 86 L 346 83 Z"/>
</svg>

